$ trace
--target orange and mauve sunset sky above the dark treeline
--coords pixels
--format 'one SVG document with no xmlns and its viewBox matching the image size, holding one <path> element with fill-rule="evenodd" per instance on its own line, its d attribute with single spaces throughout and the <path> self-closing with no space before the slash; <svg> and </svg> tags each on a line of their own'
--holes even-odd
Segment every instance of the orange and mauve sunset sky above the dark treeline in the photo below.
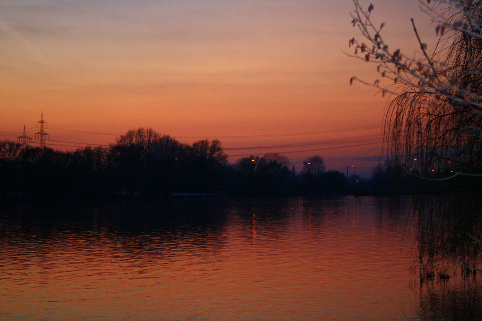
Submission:
<svg viewBox="0 0 482 321">
<path fill-rule="evenodd" d="M 362 1 L 367 7 L 370 2 Z M 417 0 L 374 0 L 373 20 L 410 55 L 435 26 Z M 150 127 L 179 141 L 219 139 L 229 162 L 276 152 L 296 169 L 310 155 L 327 169 L 370 176 L 385 156 L 388 102 L 353 76 L 376 65 L 349 57 L 351 0 L 2 0 L 0 139 L 47 146 L 114 143 Z M 383 159 L 383 158 L 382 158 Z"/>
</svg>

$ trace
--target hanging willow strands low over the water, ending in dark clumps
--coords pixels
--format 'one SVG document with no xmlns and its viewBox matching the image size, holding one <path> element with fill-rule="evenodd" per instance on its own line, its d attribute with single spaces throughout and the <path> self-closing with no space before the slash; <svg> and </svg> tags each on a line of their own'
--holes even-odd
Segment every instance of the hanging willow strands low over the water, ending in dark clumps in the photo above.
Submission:
<svg viewBox="0 0 482 321">
<path fill-rule="evenodd" d="M 477 267 L 482 258 L 482 244 L 474 242 L 471 236 L 480 239 L 482 235 L 479 199 L 479 195 L 470 194 L 412 198 L 411 219 L 412 227 L 417 229 L 417 267 L 421 280 L 447 278 L 457 270 L 463 275 L 471 272 L 449 257 Z"/>
</svg>

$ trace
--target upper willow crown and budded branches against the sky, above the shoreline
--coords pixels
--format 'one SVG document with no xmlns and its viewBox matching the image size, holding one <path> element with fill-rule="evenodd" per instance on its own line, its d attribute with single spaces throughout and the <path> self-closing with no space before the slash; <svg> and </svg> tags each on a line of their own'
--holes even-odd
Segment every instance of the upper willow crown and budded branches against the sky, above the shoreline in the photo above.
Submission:
<svg viewBox="0 0 482 321">
<path fill-rule="evenodd" d="M 385 114 L 388 156 L 395 164 L 429 179 L 480 176 L 482 1 L 420 2 L 440 38 L 428 50 L 412 19 L 418 40 L 415 57 L 385 42 L 385 24 L 373 23 L 372 4 L 363 10 L 358 0 L 353 2 L 352 24 L 364 40 L 349 40 L 352 56 L 376 63 L 381 77 L 374 82 L 352 77 L 350 84 L 360 81 L 376 87 L 383 96 L 395 97 Z"/>
</svg>

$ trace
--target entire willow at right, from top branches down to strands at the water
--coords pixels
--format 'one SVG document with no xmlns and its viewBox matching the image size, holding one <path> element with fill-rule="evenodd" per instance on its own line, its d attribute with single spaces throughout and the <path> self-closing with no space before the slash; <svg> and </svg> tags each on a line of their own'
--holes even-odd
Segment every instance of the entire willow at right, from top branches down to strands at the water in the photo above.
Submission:
<svg viewBox="0 0 482 321">
<path fill-rule="evenodd" d="M 440 38 L 428 50 L 412 19 L 419 48 L 415 57 L 388 46 L 381 32 L 384 24 L 375 26 L 371 20 L 373 5 L 363 10 L 358 0 L 353 2 L 352 23 L 365 39 L 349 40 L 353 56 L 375 62 L 381 78 L 368 82 L 352 77 L 350 83 L 361 81 L 395 97 L 384 124 L 393 163 L 425 181 L 461 176 L 466 183 L 468 176 L 478 176 L 472 187 L 480 191 L 482 1 L 420 2 Z M 482 261 L 480 193 L 414 197 L 411 212 L 421 282 L 433 279 L 437 270 L 446 278 L 450 266 L 466 269 L 466 274 L 477 270 Z"/>
</svg>

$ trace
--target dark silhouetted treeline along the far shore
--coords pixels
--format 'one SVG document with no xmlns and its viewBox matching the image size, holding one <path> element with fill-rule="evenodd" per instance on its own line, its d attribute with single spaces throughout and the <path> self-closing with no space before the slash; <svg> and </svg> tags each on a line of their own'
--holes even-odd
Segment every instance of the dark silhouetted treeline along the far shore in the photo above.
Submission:
<svg viewBox="0 0 482 321">
<path fill-rule="evenodd" d="M 407 175 L 386 163 L 372 178 L 325 170 L 311 156 L 296 173 L 285 155 L 249 156 L 228 164 L 219 140 L 182 143 L 151 128 L 129 130 L 108 147 L 22 148 L 0 141 L 0 195 L 4 198 L 109 198 L 173 193 L 229 195 L 369 194 L 373 191 L 430 192 L 443 183 Z M 380 177 L 381 173 L 381 177 Z"/>
</svg>

